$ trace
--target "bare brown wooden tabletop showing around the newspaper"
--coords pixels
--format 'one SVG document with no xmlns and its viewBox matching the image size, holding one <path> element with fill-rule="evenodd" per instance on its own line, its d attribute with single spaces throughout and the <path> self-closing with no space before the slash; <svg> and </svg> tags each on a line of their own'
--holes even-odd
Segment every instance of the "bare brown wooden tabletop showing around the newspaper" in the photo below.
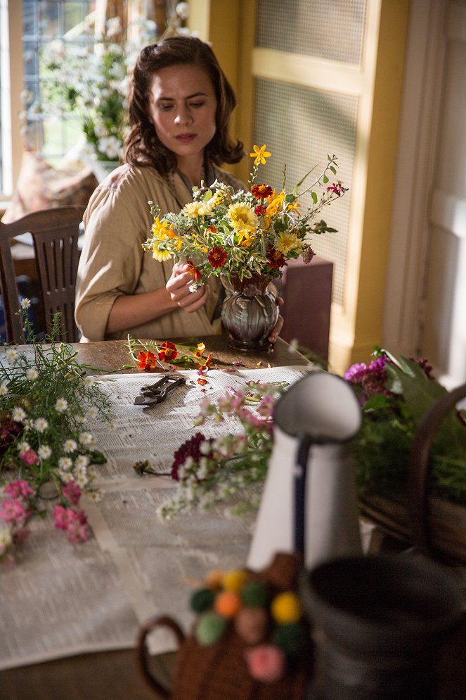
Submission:
<svg viewBox="0 0 466 700">
<path fill-rule="evenodd" d="M 304 356 L 282 339 L 278 339 L 273 350 L 262 353 L 230 349 L 223 336 L 203 337 L 202 341 L 207 351 L 212 351 L 213 368 L 241 362 L 243 368 L 263 367 L 266 375 L 268 365 L 308 364 Z M 124 341 L 82 343 L 73 347 L 77 349 L 79 362 L 105 372 L 131 364 Z M 96 374 L 95 370 L 88 371 Z M 122 371 L 138 373 L 140 370 L 133 365 Z M 166 668 L 170 673 L 175 660 L 175 654 L 165 654 L 157 660 L 160 671 L 163 673 Z M 139 675 L 133 649 L 80 654 L 0 672 L 2 700 L 154 700 L 156 697 Z"/>
</svg>

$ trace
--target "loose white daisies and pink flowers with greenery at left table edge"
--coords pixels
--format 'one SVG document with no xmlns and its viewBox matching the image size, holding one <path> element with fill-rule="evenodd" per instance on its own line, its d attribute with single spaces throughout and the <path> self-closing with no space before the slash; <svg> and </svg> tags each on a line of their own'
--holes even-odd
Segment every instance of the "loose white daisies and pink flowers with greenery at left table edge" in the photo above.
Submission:
<svg viewBox="0 0 466 700">
<path fill-rule="evenodd" d="M 53 504 L 55 527 L 72 544 L 89 537 L 79 508 L 82 494 L 98 498 L 95 466 L 105 463 L 86 421 L 108 418 L 109 400 L 85 376 L 84 365 L 64 343 L 56 343 L 60 314 L 51 337 L 37 342 L 22 300 L 27 350 L 4 346 L 0 354 L 0 561 L 12 563 L 13 549 L 28 534 L 34 515 Z"/>
</svg>

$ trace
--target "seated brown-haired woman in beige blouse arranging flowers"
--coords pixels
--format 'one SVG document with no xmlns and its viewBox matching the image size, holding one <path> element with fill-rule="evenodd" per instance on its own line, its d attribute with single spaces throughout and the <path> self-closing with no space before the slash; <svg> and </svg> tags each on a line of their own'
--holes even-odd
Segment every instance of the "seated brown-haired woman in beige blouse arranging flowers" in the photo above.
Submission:
<svg viewBox="0 0 466 700">
<path fill-rule="evenodd" d="M 180 211 L 193 185 L 216 178 L 245 189 L 220 170 L 238 163 L 242 144 L 228 137 L 236 99 L 208 44 L 169 37 L 146 46 L 131 82 L 126 164 L 94 192 L 77 275 L 76 321 L 82 341 L 217 335 L 219 282 L 190 292 L 188 266 L 153 260 L 141 244 L 152 224 L 148 201 Z M 271 336 L 276 339 L 278 330 Z"/>
</svg>

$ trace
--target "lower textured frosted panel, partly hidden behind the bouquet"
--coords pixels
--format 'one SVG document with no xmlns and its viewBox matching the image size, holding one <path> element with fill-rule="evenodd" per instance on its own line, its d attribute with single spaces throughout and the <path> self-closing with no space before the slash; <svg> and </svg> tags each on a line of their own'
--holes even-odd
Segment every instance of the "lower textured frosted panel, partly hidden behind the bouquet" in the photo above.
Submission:
<svg viewBox="0 0 466 700">
<path fill-rule="evenodd" d="M 354 96 L 257 79 L 254 143 L 259 146 L 266 143 L 272 153 L 266 165 L 259 168 L 257 182 L 281 188 L 286 164 L 287 189 L 290 190 L 314 165 L 325 165 L 327 154 L 336 154 L 337 179 L 342 180 L 345 187 L 351 187 L 357 108 L 358 100 Z M 309 184 L 311 182 L 309 180 Z M 306 206 L 309 204 L 310 199 Z M 316 254 L 334 263 L 333 300 L 337 304 L 344 302 L 350 204 L 348 193 L 326 207 L 320 218 L 338 232 L 313 237 Z"/>
</svg>

